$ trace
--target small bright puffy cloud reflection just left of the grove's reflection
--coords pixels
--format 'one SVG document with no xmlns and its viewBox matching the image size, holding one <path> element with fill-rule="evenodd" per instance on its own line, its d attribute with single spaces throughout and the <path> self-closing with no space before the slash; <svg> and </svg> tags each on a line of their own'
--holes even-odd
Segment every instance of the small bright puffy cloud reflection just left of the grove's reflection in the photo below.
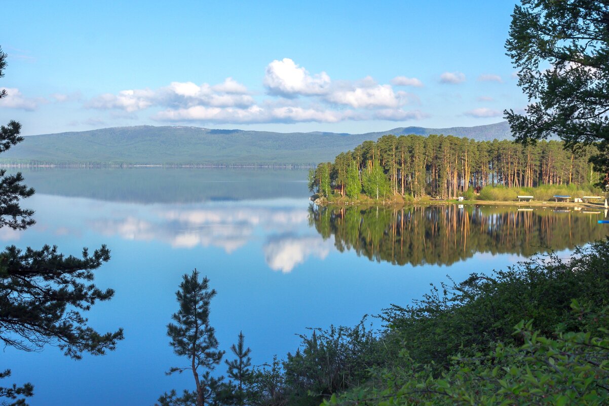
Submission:
<svg viewBox="0 0 609 406">
<path fill-rule="evenodd" d="M 264 244 L 264 259 L 273 271 L 287 273 L 292 271 L 294 266 L 305 262 L 311 255 L 325 259 L 332 247 L 330 240 L 324 241 L 319 235 L 311 237 L 282 235 L 269 238 Z"/>
</svg>

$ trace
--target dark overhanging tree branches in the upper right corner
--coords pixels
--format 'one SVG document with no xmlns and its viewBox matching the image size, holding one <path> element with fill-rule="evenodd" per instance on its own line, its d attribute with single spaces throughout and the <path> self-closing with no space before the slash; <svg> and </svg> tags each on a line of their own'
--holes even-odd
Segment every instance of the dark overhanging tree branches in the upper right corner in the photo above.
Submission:
<svg viewBox="0 0 609 406">
<path fill-rule="evenodd" d="M 593 157 L 609 182 L 609 3 L 523 0 L 512 14 L 507 55 L 529 98 L 524 114 L 505 111 L 519 141 L 558 135 Z"/>
</svg>

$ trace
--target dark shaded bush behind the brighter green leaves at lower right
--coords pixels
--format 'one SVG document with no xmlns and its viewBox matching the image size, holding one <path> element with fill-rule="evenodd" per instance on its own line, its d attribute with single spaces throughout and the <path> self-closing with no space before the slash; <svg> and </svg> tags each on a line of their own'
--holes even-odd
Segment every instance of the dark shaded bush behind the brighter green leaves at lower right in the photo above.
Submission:
<svg viewBox="0 0 609 406">
<path fill-rule="evenodd" d="M 496 341 L 519 344 L 513 326 L 532 320 L 551 334 L 582 327 L 570 317 L 572 299 L 595 308 L 609 304 L 609 244 L 576 249 L 564 262 L 555 255 L 532 258 L 493 276 L 433 288 L 409 307 L 393 305 L 383 315 L 403 349 L 422 363 L 448 366 L 459 351 L 487 351 Z"/>
</svg>

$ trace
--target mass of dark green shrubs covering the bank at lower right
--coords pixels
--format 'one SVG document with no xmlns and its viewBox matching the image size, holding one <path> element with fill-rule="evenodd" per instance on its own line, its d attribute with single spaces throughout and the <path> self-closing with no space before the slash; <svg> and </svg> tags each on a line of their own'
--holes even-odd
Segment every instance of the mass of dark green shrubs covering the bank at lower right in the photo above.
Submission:
<svg viewBox="0 0 609 406">
<path fill-rule="evenodd" d="M 609 240 L 533 257 L 394 305 L 379 333 L 301 336 L 283 368 L 257 371 L 252 404 L 607 404 L 608 305 Z"/>
</svg>

